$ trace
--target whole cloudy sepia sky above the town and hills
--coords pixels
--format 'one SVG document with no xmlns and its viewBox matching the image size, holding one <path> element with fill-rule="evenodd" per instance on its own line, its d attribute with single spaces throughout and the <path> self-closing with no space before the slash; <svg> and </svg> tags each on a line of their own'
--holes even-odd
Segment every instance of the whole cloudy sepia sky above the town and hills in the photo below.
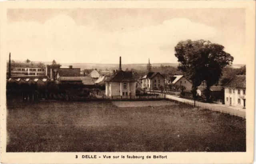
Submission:
<svg viewBox="0 0 256 164">
<path fill-rule="evenodd" d="M 12 59 L 58 63 L 177 63 L 181 40 L 224 45 L 246 63 L 244 9 L 9 9 Z"/>
</svg>

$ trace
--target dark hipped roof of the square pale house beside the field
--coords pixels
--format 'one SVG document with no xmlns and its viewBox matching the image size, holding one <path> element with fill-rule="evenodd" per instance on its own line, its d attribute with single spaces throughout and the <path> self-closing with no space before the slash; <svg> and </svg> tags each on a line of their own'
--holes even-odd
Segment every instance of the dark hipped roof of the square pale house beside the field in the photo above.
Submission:
<svg viewBox="0 0 256 164">
<path fill-rule="evenodd" d="M 132 71 L 117 71 L 112 78 L 108 79 L 110 82 L 135 82 Z"/>
</svg>

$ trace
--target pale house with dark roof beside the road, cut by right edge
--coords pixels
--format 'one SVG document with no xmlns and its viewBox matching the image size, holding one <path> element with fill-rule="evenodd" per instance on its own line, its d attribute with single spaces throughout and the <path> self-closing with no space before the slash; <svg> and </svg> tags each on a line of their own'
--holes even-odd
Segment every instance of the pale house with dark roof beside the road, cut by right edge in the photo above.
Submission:
<svg viewBox="0 0 256 164">
<path fill-rule="evenodd" d="M 246 107 L 246 75 L 236 75 L 224 85 L 225 104 Z"/>
</svg>

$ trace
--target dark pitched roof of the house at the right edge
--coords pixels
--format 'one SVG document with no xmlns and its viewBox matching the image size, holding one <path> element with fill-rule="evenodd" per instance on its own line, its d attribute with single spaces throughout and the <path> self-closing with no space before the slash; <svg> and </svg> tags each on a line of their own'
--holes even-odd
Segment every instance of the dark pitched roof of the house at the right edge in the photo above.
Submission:
<svg viewBox="0 0 256 164">
<path fill-rule="evenodd" d="M 246 88 L 246 75 L 236 75 L 224 87 L 230 88 Z"/>
</svg>

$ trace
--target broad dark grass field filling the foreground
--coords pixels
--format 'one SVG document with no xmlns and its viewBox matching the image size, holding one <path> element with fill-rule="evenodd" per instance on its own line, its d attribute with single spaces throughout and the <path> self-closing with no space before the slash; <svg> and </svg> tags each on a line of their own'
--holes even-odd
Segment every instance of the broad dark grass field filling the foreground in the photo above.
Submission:
<svg viewBox="0 0 256 164">
<path fill-rule="evenodd" d="M 8 101 L 7 152 L 246 151 L 240 117 L 168 101 L 125 103 Z"/>
</svg>

